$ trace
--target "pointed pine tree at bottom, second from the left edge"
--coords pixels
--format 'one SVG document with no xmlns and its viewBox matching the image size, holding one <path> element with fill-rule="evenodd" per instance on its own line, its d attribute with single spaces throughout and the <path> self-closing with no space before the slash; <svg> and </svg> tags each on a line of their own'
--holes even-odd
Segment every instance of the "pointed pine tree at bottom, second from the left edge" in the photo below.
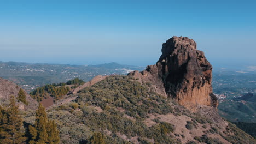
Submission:
<svg viewBox="0 0 256 144">
<path fill-rule="evenodd" d="M 36 111 L 36 121 L 34 127 L 30 125 L 30 144 L 57 144 L 60 142 L 59 131 L 54 121 L 49 121 L 46 116 L 44 106 L 39 104 Z"/>
</svg>

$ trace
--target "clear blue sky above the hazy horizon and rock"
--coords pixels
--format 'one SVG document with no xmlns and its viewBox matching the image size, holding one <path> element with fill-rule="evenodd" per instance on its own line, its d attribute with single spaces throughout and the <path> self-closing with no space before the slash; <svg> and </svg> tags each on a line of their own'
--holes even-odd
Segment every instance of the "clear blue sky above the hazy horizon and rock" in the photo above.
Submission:
<svg viewBox="0 0 256 144">
<path fill-rule="evenodd" d="M 256 1 L 2 1 L 0 61 L 151 65 L 173 35 L 256 65 Z"/>
</svg>

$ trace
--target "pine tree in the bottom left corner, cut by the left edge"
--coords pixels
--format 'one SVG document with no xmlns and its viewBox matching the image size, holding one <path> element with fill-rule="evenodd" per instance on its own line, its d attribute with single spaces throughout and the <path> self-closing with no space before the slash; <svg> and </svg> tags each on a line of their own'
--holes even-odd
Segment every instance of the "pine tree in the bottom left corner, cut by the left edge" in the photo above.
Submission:
<svg viewBox="0 0 256 144">
<path fill-rule="evenodd" d="M 0 143 L 24 142 L 26 137 L 14 96 L 11 96 L 8 109 L 0 107 L 0 111 Z"/>
</svg>

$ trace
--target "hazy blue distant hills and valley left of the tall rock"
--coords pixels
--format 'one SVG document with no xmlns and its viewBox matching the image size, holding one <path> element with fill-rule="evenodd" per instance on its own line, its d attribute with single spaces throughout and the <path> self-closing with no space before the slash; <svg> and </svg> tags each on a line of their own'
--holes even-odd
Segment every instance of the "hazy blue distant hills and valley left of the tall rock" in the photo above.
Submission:
<svg viewBox="0 0 256 144">
<path fill-rule="evenodd" d="M 28 92 L 33 87 L 66 82 L 75 77 L 90 81 L 97 75 L 126 75 L 133 70 L 142 69 L 144 67 L 122 65 L 115 62 L 98 65 L 0 62 L 0 77 L 15 82 Z"/>
</svg>

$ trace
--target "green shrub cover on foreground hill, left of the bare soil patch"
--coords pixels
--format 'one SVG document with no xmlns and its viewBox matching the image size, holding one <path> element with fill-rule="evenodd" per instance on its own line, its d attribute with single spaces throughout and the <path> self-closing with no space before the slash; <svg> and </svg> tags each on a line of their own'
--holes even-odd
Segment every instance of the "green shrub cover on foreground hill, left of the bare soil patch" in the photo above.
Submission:
<svg viewBox="0 0 256 144">
<path fill-rule="evenodd" d="M 49 117 L 61 120 L 57 124 L 61 128 L 61 137 L 66 137 L 61 139 L 62 143 L 78 143 L 81 139 L 90 142 L 94 131 L 101 133 L 106 143 L 129 143 L 120 139 L 118 133 L 128 139 L 138 136 L 141 143 L 148 143 L 147 139 L 156 143 L 179 143 L 170 136 L 174 131 L 172 124 L 156 121 L 156 124 L 147 127 L 143 122 L 149 114 L 171 113 L 173 109 L 169 103 L 166 98 L 128 76 L 111 76 L 83 89 L 75 103 L 51 110 Z M 71 113 L 70 110 L 77 106 L 80 110 Z M 95 107 L 103 111 L 98 112 Z M 72 125 L 72 129 L 68 125 Z M 110 136 L 104 130 L 111 131 Z"/>
</svg>

